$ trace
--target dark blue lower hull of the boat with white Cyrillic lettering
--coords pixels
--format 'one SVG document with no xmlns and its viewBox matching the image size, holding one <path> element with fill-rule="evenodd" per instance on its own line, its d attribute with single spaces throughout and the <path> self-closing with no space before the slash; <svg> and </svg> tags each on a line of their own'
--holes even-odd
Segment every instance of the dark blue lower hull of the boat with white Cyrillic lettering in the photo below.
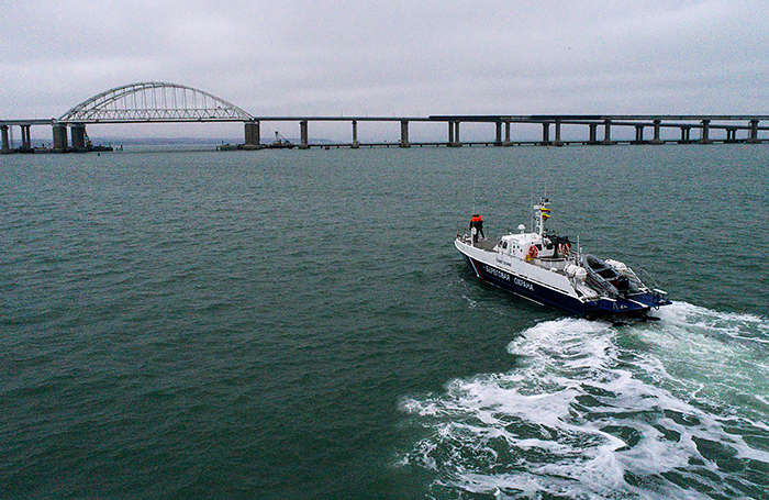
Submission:
<svg viewBox="0 0 769 500">
<path fill-rule="evenodd" d="M 512 275 L 489 264 L 476 260 L 465 254 L 465 260 L 483 281 L 500 287 L 519 297 L 528 299 L 554 309 L 562 309 L 572 314 L 589 318 L 600 318 L 615 314 L 638 314 L 649 310 L 644 295 L 637 302 L 617 298 L 616 300 L 601 299 L 583 303 L 573 297 L 543 287 L 520 276 Z M 638 303 L 642 302 L 642 303 Z"/>
</svg>

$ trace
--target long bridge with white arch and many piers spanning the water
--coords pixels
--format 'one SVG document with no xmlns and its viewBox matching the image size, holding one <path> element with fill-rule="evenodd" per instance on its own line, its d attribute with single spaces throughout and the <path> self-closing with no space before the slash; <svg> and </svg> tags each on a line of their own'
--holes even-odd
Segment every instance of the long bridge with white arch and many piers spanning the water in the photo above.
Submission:
<svg viewBox="0 0 769 500">
<path fill-rule="evenodd" d="M 311 143 L 310 123 L 348 122 L 350 140 L 328 144 Z M 361 147 L 361 146 L 517 146 L 568 144 L 612 145 L 612 144 L 711 144 L 718 143 L 762 143 L 769 142 L 766 132 L 769 115 L 430 115 L 430 116 L 255 116 L 242 108 L 203 90 L 192 87 L 161 82 L 137 82 L 116 87 L 91 97 L 75 105 L 58 119 L 49 120 L 0 120 L 2 138 L 0 153 L 33 153 L 31 127 L 52 127 L 53 148 L 51 151 L 83 152 L 90 148 L 86 125 L 102 123 L 175 123 L 175 122 L 242 122 L 244 143 L 232 148 L 259 149 L 269 145 L 261 143 L 263 122 L 296 122 L 299 125 L 300 148 L 310 147 Z M 360 142 L 359 122 L 400 123 L 400 136 L 392 142 Z M 412 123 L 444 123 L 445 141 L 412 142 L 409 131 Z M 460 125 L 464 123 L 489 124 L 488 141 L 460 140 Z M 539 138 L 513 138 L 514 124 L 539 126 Z M 580 140 L 564 140 L 564 127 L 587 129 Z M 21 129 L 21 146 L 13 148 L 13 127 Z M 492 129 L 493 127 L 493 129 Z M 612 130 L 625 127 L 635 131 L 634 138 L 616 138 Z M 672 130 L 672 133 L 671 133 Z M 692 130 L 695 131 L 694 135 Z M 650 134 L 647 133 L 650 131 Z M 600 132 L 600 134 L 599 134 Z M 664 133 L 665 132 L 665 133 Z M 628 134 L 624 134 L 628 135 Z"/>
</svg>

